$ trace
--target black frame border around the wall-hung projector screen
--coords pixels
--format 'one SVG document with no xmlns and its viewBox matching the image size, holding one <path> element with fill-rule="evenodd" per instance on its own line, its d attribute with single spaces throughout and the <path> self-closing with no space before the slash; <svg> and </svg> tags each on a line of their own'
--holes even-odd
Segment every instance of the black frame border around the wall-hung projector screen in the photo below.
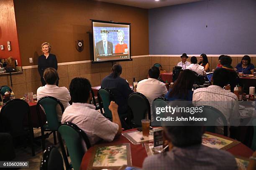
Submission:
<svg viewBox="0 0 256 170">
<path fill-rule="evenodd" d="M 121 61 L 132 61 L 133 59 L 131 58 L 131 23 L 119 23 L 119 22 L 114 22 L 112 20 L 110 21 L 102 21 L 102 20 L 92 20 L 92 47 L 93 47 L 93 55 L 92 55 L 92 63 L 100 63 L 100 62 L 121 62 Z M 108 23 L 108 24 L 120 24 L 120 25 L 129 25 L 129 59 L 122 59 L 122 60 L 104 60 L 104 61 L 95 61 L 94 60 L 94 55 L 95 55 L 95 44 L 94 44 L 94 35 L 93 35 L 93 22 L 97 23 Z"/>
</svg>

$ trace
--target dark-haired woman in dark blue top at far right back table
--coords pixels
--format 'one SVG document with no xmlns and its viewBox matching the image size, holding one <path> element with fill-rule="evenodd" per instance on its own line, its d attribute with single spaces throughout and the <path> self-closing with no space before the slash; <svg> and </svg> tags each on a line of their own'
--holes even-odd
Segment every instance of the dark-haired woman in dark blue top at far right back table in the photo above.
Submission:
<svg viewBox="0 0 256 170">
<path fill-rule="evenodd" d="M 241 63 L 235 67 L 236 72 L 243 72 L 243 74 L 253 74 L 254 65 L 251 63 L 249 55 L 243 56 Z"/>
</svg>

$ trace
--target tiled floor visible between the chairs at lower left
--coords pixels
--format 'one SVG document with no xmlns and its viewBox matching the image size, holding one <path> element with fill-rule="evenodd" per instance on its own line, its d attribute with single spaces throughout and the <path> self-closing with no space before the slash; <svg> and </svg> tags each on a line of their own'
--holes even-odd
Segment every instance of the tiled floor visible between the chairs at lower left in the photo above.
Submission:
<svg viewBox="0 0 256 170">
<path fill-rule="evenodd" d="M 34 129 L 34 135 L 35 137 L 41 135 L 40 128 Z M 38 142 L 40 143 L 41 140 L 38 140 Z M 49 136 L 49 138 L 46 139 L 46 147 L 49 147 L 50 145 L 54 145 L 54 139 L 52 134 Z M 59 152 L 61 153 L 58 140 L 55 146 L 59 149 Z M 13 161 L 29 161 L 29 168 L 20 168 L 20 170 L 28 170 L 28 169 L 39 170 L 41 158 L 43 155 L 42 148 L 41 148 L 41 145 L 39 146 L 36 144 L 34 145 L 34 147 L 35 147 L 35 153 L 36 153 L 35 156 L 32 156 L 31 148 L 29 146 L 27 148 L 23 148 L 23 147 L 15 148 L 16 157 Z M 70 162 L 70 158 L 69 158 L 69 162 Z M 65 166 L 64 163 L 63 165 Z"/>
</svg>

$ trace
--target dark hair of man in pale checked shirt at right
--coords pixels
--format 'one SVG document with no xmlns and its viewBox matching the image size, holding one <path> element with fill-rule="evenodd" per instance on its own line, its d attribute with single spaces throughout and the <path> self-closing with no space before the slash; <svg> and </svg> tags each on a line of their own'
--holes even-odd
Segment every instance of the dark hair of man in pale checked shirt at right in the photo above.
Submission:
<svg viewBox="0 0 256 170">
<path fill-rule="evenodd" d="M 212 75 L 213 85 L 224 87 L 229 83 L 229 72 L 225 68 L 217 68 Z"/>
</svg>

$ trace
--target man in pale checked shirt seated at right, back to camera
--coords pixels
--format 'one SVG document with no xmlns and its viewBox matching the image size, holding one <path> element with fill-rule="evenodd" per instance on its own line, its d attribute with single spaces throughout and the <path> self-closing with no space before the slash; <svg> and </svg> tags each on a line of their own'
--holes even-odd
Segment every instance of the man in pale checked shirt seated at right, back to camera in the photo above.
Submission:
<svg viewBox="0 0 256 170">
<path fill-rule="evenodd" d="M 240 122 L 237 96 L 228 90 L 223 89 L 228 85 L 229 72 L 224 68 L 218 68 L 212 75 L 212 85 L 205 88 L 198 88 L 193 93 L 195 105 L 209 105 L 220 110 L 227 119 L 228 125 L 237 126 Z M 218 121 L 221 125 L 221 122 Z M 223 134 L 223 128 L 217 129 L 219 134 Z"/>
</svg>

